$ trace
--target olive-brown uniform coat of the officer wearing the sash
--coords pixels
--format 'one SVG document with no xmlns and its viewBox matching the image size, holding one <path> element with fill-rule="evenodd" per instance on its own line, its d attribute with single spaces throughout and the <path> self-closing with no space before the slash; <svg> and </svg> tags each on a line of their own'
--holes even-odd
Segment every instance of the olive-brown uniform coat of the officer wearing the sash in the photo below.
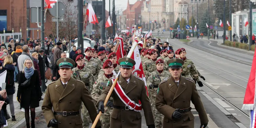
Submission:
<svg viewBox="0 0 256 128">
<path fill-rule="evenodd" d="M 101 93 L 98 98 L 99 101 L 104 101 L 111 86 L 112 86 L 112 78 L 109 79 L 109 84 L 106 89 Z M 127 84 L 125 78 L 122 75 L 119 76 L 118 82 L 122 87 L 124 93 L 137 104 L 139 100 L 141 101 L 141 106 L 144 111 L 146 124 L 154 124 L 154 117 L 151 109 L 151 104 L 149 98 L 147 96 L 147 90 L 145 87 L 144 81 L 131 75 L 130 82 Z M 114 101 L 114 105 L 125 106 L 122 100 L 117 96 L 115 90 L 112 92 L 112 97 Z M 97 103 L 98 104 L 98 103 Z M 125 111 L 120 109 L 113 109 L 110 115 L 110 128 L 141 128 L 141 114 L 140 112 L 136 112 L 133 110 Z"/>
</svg>

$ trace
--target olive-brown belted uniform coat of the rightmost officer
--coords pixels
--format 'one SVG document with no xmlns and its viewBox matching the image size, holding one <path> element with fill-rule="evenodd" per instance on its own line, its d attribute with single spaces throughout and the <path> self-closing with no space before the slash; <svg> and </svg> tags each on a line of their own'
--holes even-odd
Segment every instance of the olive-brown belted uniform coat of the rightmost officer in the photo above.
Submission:
<svg viewBox="0 0 256 128">
<path fill-rule="evenodd" d="M 195 105 L 201 124 L 208 123 L 203 103 L 193 79 L 181 76 L 179 86 L 172 77 L 162 81 L 158 87 L 156 108 L 164 116 L 163 128 L 194 128 L 195 117 L 191 111 L 182 113 L 180 119 L 172 118 L 176 109 L 189 108 L 190 101 Z"/>
</svg>

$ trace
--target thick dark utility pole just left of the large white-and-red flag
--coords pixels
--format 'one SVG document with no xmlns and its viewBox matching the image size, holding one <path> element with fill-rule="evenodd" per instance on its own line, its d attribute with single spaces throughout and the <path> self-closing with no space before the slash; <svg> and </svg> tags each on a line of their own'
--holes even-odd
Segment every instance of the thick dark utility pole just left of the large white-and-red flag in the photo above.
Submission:
<svg viewBox="0 0 256 128">
<path fill-rule="evenodd" d="M 78 30 L 77 30 L 77 36 L 78 36 L 78 41 L 77 41 L 77 46 L 80 47 L 81 49 L 84 48 L 84 41 L 83 41 L 83 0 L 78 0 L 77 2 L 77 11 L 78 11 Z M 89 27 L 90 30 L 90 27 Z M 90 33 L 89 33 L 90 35 Z M 89 36 L 90 38 L 90 36 Z M 84 51 L 82 50 L 82 53 Z"/>
</svg>

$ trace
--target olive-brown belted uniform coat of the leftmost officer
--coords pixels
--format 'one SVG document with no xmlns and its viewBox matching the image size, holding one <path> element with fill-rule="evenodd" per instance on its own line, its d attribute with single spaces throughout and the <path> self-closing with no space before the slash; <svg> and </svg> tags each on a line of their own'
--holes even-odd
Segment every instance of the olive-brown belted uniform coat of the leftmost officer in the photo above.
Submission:
<svg viewBox="0 0 256 128">
<path fill-rule="evenodd" d="M 71 77 L 65 88 L 60 78 L 49 84 L 42 104 L 42 111 L 47 126 L 49 126 L 50 120 L 55 118 L 58 121 L 58 128 L 82 128 L 83 121 L 81 114 L 67 117 L 53 114 L 53 111 L 79 111 L 82 102 L 87 108 L 92 122 L 94 122 L 97 116 L 96 107 L 88 89 L 86 89 L 82 81 L 75 80 Z M 101 126 L 100 121 L 98 121 L 97 126 Z"/>
</svg>

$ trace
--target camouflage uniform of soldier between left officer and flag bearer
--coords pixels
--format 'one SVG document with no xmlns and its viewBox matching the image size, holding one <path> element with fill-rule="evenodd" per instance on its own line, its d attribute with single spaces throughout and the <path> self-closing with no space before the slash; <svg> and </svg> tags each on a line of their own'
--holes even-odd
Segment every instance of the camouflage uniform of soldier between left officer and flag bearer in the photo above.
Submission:
<svg viewBox="0 0 256 128">
<path fill-rule="evenodd" d="M 98 79 L 95 81 L 95 84 L 93 85 L 93 91 L 92 91 L 92 98 L 94 99 L 95 104 L 98 101 L 98 97 L 100 96 L 102 91 L 105 90 L 107 83 L 108 83 L 108 78 L 105 75 L 98 77 Z M 110 97 L 109 100 L 111 102 L 113 102 L 112 97 Z M 101 127 L 109 128 L 110 127 L 110 114 L 112 113 L 113 108 L 105 106 L 104 109 L 105 109 L 104 114 L 101 114 L 101 116 L 100 116 L 100 121 L 102 124 Z"/>
</svg>

